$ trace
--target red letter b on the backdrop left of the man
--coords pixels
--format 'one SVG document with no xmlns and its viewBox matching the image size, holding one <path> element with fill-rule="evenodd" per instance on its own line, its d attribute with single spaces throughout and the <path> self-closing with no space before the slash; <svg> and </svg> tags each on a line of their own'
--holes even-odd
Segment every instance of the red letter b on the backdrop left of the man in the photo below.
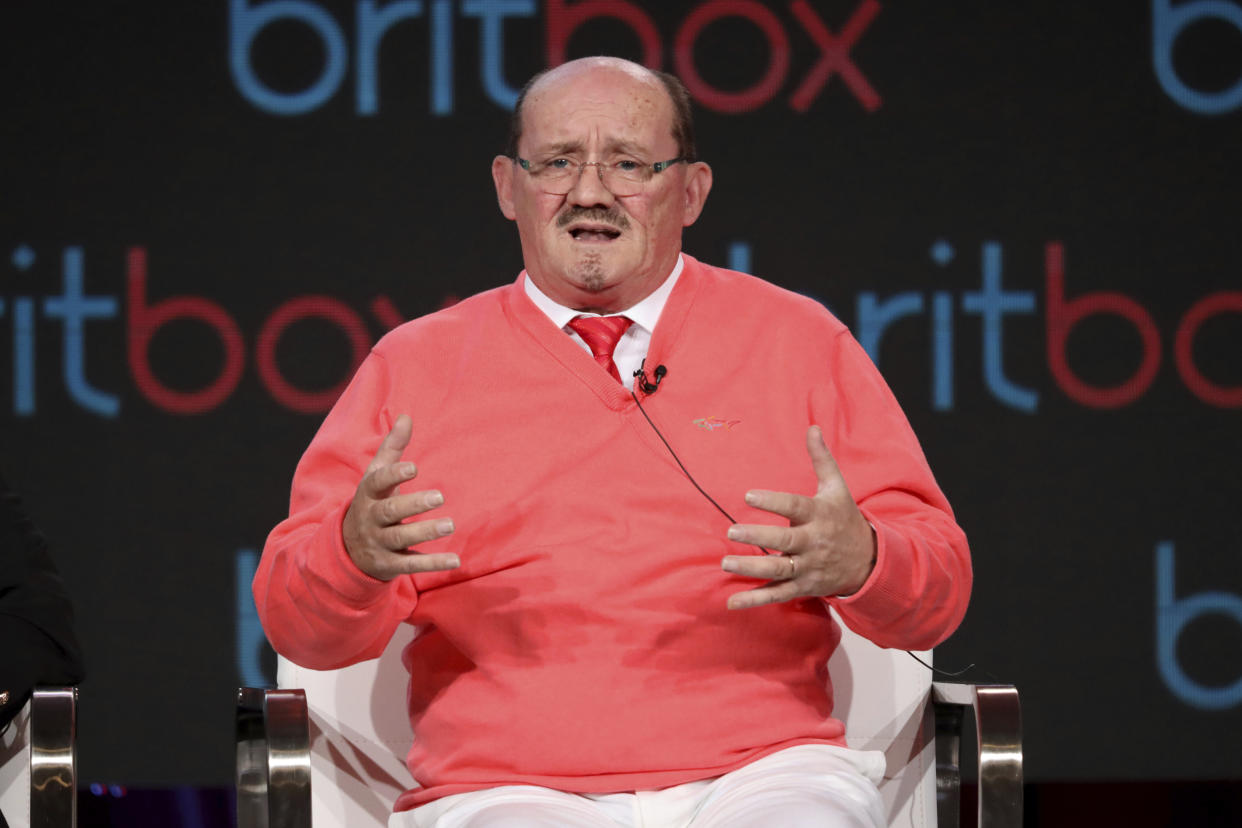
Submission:
<svg viewBox="0 0 1242 828">
<path fill-rule="evenodd" d="M 165 411 L 196 415 L 219 406 L 241 381 L 245 353 L 237 323 L 215 302 L 199 297 L 173 297 L 147 304 L 147 250 L 130 247 L 127 257 L 129 288 L 129 371 L 139 391 Z M 225 348 L 225 362 L 216 379 L 197 391 L 176 391 L 160 382 L 150 369 L 149 349 L 155 331 L 175 319 L 197 319 L 211 326 Z"/>
</svg>

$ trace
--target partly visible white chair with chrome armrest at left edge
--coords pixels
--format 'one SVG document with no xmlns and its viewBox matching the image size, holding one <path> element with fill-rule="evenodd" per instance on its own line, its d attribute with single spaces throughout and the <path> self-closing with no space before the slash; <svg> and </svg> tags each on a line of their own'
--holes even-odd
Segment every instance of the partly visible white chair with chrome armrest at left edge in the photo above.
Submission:
<svg viewBox="0 0 1242 828">
<path fill-rule="evenodd" d="M 77 826 L 77 688 L 36 689 L 0 737 L 0 813 L 10 828 Z"/>
</svg>

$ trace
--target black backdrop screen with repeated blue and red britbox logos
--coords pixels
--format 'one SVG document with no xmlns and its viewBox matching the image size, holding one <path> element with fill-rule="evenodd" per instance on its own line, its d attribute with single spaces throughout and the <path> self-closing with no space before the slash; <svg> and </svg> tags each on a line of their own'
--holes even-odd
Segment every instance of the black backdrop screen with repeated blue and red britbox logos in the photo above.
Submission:
<svg viewBox="0 0 1242 828">
<path fill-rule="evenodd" d="M 1242 4 L 217 0 L 0 14 L 4 474 L 88 660 L 87 781 L 231 780 L 250 578 L 370 344 L 512 282 L 532 73 L 677 72 L 684 247 L 830 307 L 966 529 L 938 664 L 1028 777 L 1236 777 Z"/>
</svg>

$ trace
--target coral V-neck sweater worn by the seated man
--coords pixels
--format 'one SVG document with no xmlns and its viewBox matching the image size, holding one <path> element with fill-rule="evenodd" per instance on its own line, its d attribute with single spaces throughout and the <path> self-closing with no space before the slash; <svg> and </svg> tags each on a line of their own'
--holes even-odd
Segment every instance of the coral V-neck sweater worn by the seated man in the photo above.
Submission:
<svg viewBox="0 0 1242 828">
<path fill-rule="evenodd" d="M 928 648 L 970 592 L 965 536 L 897 401 L 818 303 L 686 257 L 642 397 L 698 483 L 740 523 L 779 523 L 748 489 L 812 494 L 809 425 L 876 526 L 848 598 L 725 610 L 756 586 L 720 569 L 759 554 L 677 467 L 622 389 L 515 284 L 380 340 L 310 443 L 255 598 L 278 652 L 309 668 L 375 658 L 401 622 L 409 755 L 397 809 L 498 785 L 658 788 L 791 745 L 843 745 L 827 612 L 883 647 Z M 462 565 L 369 577 L 340 524 L 380 441 L 414 418 L 407 490 L 436 488 Z"/>
</svg>

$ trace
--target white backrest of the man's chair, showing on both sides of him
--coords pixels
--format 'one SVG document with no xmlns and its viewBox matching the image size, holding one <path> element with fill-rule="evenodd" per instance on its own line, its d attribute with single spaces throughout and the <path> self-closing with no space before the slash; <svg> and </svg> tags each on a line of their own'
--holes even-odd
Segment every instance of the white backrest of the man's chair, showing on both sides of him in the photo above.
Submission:
<svg viewBox="0 0 1242 828">
<path fill-rule="evenodd" d="M 308 670 L 279 659 L 277 684 L 307 694 L 315 828 L 384 828 L 397 794 L 415 787 L 405 766 L 414 734 L 401 665 L 401 650 L 415 632 L 402 624 L 379 659 L 339 670 Z M 929 653 L 918 655 L 930 663 Z M 884 751 L 888 760 L 879 788 L 889 826 L 935 826 L 932 672 L 905 652 L 876 647 L 842 626 L 828 673 L 833 715 L 845 719 L 850 746 Z"/>
</svg>

